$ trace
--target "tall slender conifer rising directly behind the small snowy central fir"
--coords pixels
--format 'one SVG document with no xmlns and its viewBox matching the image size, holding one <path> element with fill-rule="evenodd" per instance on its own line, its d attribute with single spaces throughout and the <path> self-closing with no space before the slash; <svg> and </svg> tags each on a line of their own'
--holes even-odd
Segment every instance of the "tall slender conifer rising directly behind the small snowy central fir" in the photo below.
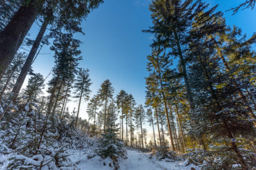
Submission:
<svg viewBox="0 0 256 170">
<path fill-rule="evenodd" d="M 108 101 L 113 98 L 114 88 L 111 86 L 111 82 L 107 79 L 105 80 L 98 91 L 98 96 L 100 98 L 101 103 L 104 103 L 104 124 L 103 130 L 106 130 L 106 116 L 107 116 L 107 106 Z"/>
</svg>

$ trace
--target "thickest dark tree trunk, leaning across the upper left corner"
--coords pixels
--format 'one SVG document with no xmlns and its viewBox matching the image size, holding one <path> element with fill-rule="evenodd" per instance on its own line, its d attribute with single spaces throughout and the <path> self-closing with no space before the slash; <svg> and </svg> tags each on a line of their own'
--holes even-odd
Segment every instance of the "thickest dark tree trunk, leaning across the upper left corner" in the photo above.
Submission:
<svg viewBox="0 0 256 170">
<path fill-rule="evenodd" d="M 0 32 L 0 80 L 34 23 L 44 2 L 45 0 L 31 0 L 28 5 L 20 6 L 4 30 Z"/>
</svg>

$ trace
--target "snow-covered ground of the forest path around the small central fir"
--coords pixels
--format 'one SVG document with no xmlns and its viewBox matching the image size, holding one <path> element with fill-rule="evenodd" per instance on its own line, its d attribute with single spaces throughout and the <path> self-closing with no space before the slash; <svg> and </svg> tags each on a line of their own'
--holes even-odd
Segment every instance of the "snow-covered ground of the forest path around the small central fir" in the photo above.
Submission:
<svg viewBox="0 0 256 170">
<path fill-rule="evenodd" d="M 113 170 L 113 167 L 109 167 L 110 160 L 102 160 L 101 157 L 95 156 L 91 159 L 87 159 L 87 154 L 73 155 L 71 159 L 78 163 L 78 167 L 81 170 Z M 103 165 L 105 162 L 106 166 Z M 190 170 L 194 167 L 196 170 L 200 168 L 195 165 L 185 166 L 184 162 L 165 162 L 158 161 L 154 158 L 149 158 L 148 154 L 141 153 L 135 150 L 127 150 L 127 159 L 122 160 L 119 163 L 120 170 Z"/>
</svg>

